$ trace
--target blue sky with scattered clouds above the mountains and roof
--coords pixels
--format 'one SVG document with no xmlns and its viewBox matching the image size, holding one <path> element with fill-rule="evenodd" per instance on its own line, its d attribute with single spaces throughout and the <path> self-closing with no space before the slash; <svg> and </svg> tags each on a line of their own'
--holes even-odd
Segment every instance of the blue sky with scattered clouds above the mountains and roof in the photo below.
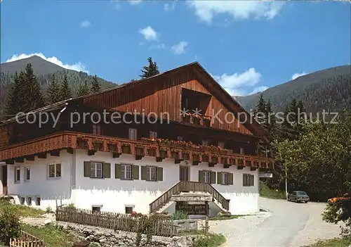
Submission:
<svg viewBox="0 0 351 247">
<path fill-rule="evenodd" d="M 160 71 L 199 61 L 232 95 L 350 64 L 340 1 L 1 1 L 1 63 L 41 53 L 122 83 L 152 56 Z"/>
</svg>

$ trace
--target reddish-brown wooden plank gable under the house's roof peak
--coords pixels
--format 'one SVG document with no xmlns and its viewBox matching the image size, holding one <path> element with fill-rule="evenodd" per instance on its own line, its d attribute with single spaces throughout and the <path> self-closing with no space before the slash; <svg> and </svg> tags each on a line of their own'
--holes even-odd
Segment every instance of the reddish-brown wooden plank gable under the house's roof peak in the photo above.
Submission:
<svg viewBox="0 0 351 247">
<path fill-rule="evenodd" d="M 215 121 L 212 125 L 213 128 L 260 135 L 257 131 L 260 128 L 258 124 L 240 124 L 237 119 L 233 119 L 233 114 L 228 114 L 234 113 L 236 116 L 237 113 L 244 112 L 244 109 L 213 80 L 199 63 L 185 65 L 154 77 L 103 91 L 100 94 L 86 96 L 83 101 L 94 108 L 145 113 L 145 115 L 154 113 L 158 117 L 167 117 L 169 120 L 180 122 L 182 120 L 180 110 L 183 89 L 211 96 L 206 113 L 201 114 L 211 115 L 212 112 L 217 113 L 218 110 L 223 109 L 218 114 L 218 118 L 222 120 L 223 124 L 220 121 Z M 227 115 L 229 123 L 225 123 L 225 115 Z"/>
</svg>

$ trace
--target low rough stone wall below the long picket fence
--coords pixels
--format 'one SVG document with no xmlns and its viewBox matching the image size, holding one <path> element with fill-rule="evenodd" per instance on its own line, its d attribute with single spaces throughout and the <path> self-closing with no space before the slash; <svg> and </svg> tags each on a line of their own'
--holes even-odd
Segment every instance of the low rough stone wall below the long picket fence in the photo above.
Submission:
<svg viewBox="0 0 351 247">
<path fill-rule="evenodd" d="M 91 227 L 81 224 L 73 224 L 67 222 L 56 222 L 58 225 L 70 232 L 79 236 L 79 239 L 86 239 L 91 243 L 88 247 L 135 247 L 136 246 L 136 233 L 114 231 L 112 229 L 105 229 L 100 227 Z M 142 236 L 140 246 L 150 247 L 186 247 L 192 246 L 194 241 L 193 236 L 173 236 L 171 238 L 164 236 L 152 236 L 152 241 L 146 243 L 146 236 Z"/>
</svg>

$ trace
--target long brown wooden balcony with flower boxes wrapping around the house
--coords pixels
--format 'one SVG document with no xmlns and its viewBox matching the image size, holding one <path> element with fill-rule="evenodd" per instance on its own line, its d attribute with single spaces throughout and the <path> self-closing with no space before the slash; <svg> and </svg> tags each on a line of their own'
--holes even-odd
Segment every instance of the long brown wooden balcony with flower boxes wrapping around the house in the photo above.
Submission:
<svg viewBox="0 0 351 247">
<path fill-rule="evenodd" d="M 96 151 L 110 152 L 114 158 L 122 153 L 129 153 L 135 155 L 137 160 L 144 156 L 154 156 L 158 162 L 164 158 L 173 158 L 175 163 L 180 163 L 182 160 L 187 160 L 192 165 L 207 162 L 210 167 L 218 163 L 223 164 L 224 167 L 231 165 L 250 166 L 253 169 L 273 167 L 270 159 L 240 155 L 218 146 L 197 146 L 191 142 L 166 139 L 131 140 L 78 132 L 60 132 L 6 146 L 0 149 L 0 160 L 6 160 L 8 163 L 13 163 L 13 160 L 21 162 L 24 158 L 34 160 L 34 156 L 46 158 L 46 153 L 58 156 L 60 153 L 58 151 L 61 149 L 67 149 L 72 153 L 74 148 L 85 149 L 88 155 L 93 155 Z"/>
</svg>

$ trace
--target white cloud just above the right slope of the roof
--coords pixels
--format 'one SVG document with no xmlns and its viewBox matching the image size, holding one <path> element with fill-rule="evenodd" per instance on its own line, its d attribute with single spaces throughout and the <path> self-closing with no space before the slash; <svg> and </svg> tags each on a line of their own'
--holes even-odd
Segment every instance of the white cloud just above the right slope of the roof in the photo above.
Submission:
<svg viewBox="0 0 351 247">
<path fill-rule="evenodd" d="M 250 68 L 241 74 L 228 75 L 225 73 L 220 76 L 212 75 L 212 77 L 232 96 L 244 96 L 267 89 L 265 86 L 254 87 L 261 78 L 261 74 L 255 68 Z"/>
</svg>

